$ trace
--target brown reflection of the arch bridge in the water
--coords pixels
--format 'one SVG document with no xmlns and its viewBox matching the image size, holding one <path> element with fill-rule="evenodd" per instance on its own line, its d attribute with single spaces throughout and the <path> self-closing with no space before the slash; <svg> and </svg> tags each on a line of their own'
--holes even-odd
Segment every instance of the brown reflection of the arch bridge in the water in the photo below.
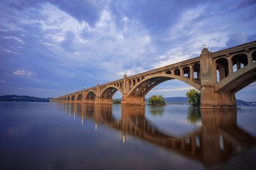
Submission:
<svg viewBox="0 0 256 170">
<path fill-rule="evenodd" d="M 120 118 L 112 114 L 111 104 L 62 103 L 60 109 L 74 118 L 90 119 L 122 132 L 123 142 L 127 135 L 136 136 L 172 152 L 213 167 L 226 162 L 237 153 L 256 146 L 253 136 L 237 125 L 237 110 L 189 110 L 191 122 L 201 117 L 202 127 L 184 136 L 170 136 L 159 130 L 145 117 L 145 106 L 122 106 Z M 196 113 L 198 111 L 198 113 Z M 198 116 L 199 115 L 199 116 Z"/>
</svg>

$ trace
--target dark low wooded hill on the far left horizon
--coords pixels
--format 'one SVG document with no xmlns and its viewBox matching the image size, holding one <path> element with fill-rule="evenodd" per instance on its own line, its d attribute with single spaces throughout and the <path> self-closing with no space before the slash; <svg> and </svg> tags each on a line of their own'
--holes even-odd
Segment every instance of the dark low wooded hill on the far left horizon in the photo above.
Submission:
<svg viewBox="0 0 256 170">
<path fill-rule="evenodd" d="M 49 102 L 50 98 L 40 98 L 31 96 L 5 95 L 0 96 L 0 101 L 33 101 L 33 102 Z"/>
</svg>

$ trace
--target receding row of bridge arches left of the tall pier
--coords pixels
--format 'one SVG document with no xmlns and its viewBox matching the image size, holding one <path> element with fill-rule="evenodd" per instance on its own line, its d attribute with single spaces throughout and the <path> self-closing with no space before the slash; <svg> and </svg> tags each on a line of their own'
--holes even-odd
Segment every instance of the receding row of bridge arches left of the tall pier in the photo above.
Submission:
<svg viewBox="0 0 256 170">
<path fill-rule="evenodd" d="M 158 73 L 158 74 L 157 74 Z M 131 78 L 127 80 L 128 93 L 131 96 L 143 97 L 145 96 L 151 89 L 156 87 L 159 83 L 163 81 L 167 81 L 173 79 L 171 77 L 177 78 L 187 78 L 188 80 L 197 80 L 198 84 L 200 84 L 200 64 L 197 62 L 191 66 L 184 66 L 173 69 L 166 69 L 164 71 L 159 71 L 156 74 L 145 74 L 140 77 Z M 149 77 L 149 79 L 148 79 Z M 152 78 L 150 78 L 152 77 Z M 188 82 L 186 82 L 188 83 Z M 134 89 L 137 87 L 136 89 Z M 99 87 L 99 99 L 112 101 L 113 95 L 116 91 L 120 91 L 122 93 L 124 88 L 124 81 L 118 81 L 113 83 L 112 85 L 103 85 Z M 133 88 L 133 89 L 132 89 Z M 96 90 L 96 89 L 95 89 Z M 90 90 L 86 96 L 83 96 L 81 93 L 77 95 L 63 97 L 61 101 L 89 101 L 94 102 L 96 98 L 96 93 L 93 90 Z"/>
</svg>

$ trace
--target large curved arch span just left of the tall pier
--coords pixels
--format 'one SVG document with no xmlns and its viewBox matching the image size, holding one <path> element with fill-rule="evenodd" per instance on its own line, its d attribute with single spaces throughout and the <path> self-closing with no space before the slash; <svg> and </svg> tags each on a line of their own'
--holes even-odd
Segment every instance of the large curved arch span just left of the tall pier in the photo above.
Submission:
<svg viewBox="0 0 256 170">
<path fill-rule="evenodd" d="M 156 87 L 156 85 L 172 79 L 183 81 L 184 83 L 191 85 L 197 90 L 201 89 L 201 85 L 198 82 L 186 77 L 173 74 L 153 74 L 152 76 L 148 76 L 145 79 L 141 80 L 140 83 L 137 83 L 134 87 L 132 87 L 132 89 L 129 90 L 127 96 L 144 97 L 151 89 Z"/>
</svg>

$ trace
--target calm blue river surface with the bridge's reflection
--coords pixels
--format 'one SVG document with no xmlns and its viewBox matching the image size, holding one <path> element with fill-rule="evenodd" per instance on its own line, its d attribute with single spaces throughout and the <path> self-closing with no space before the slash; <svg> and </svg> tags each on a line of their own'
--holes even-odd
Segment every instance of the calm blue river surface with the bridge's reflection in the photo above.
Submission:
<svg viewBox="0 0 256 170">
<path fill-rule="evenodd" d="M 218 169 L 256 146 L 255 107 L 0 102 L 0 113 L 0 169 Z"/>
</svg>

